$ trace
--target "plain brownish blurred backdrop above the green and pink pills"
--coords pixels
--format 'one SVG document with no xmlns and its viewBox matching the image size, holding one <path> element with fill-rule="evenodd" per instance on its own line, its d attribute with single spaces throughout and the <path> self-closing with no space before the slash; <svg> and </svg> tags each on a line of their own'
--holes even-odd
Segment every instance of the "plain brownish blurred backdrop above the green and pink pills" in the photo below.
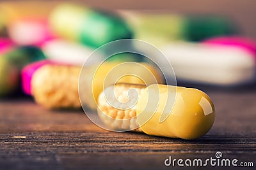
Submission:
<svg viewBox="0 0 256 170">
<path fill-rule="evenodd" d="M 79 2 L 79 1 L 78 1 Z M 82 1 L 81 1 L 82 2 Z M 186 0 L 181 1 L 108 1 L 108 5 L 101 1 L 83 1 L 84 4 L 109 10 L 153 10 L 167 11 L 168 13 L 178 13 L 185 15 L 223 15 L 236 20 L 237 25 L 243 32 L 244 36 L 256 38 L 255 22 L 255 1 L 202 1 L 193 0 L 188 3 Z"/>
</svg>

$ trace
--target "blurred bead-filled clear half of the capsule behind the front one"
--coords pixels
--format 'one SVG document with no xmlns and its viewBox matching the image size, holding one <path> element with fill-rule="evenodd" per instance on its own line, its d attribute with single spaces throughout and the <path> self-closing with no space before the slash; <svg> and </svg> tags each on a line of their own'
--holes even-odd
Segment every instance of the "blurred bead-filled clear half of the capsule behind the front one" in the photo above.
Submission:
<svg viewBox="0 0 256 170">
<path fill-rule="evenodd" d="M 81 67 L 45 65 L 35 71 L 31 92 L 36 103 L 45 108 L 81 108 L 78 79 Z"/>
</svg>

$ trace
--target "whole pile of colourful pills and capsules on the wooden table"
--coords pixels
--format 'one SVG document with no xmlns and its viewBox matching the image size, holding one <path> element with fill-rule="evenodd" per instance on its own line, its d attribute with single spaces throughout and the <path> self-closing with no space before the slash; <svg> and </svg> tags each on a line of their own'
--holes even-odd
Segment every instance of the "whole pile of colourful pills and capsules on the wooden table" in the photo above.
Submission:
<svg viewBox="0 0 256 170">
<path fill-rule="evenodd" d="M 97 111 L 113 131 L 199 138 L 214 123 L 214 105 L 200 90 L 166 85 L 169 66 L 178 81 L 252 83 L 256 43 L 234 34 L 234 22 L 212 15 L 113 13 L 81 4 L 6 1 L 0 3 L 0 97 L 22 90 L 48 109 Z M 170 63 L 161 57 L 149 61 L 140 52 L 154 55 L 154 50 L 129 44 L 136 53 L 107 59 L 109 51 L 100 51 L 82 69 L 100 46 L 131 38 L 157 46 Z"/>
</svg>

